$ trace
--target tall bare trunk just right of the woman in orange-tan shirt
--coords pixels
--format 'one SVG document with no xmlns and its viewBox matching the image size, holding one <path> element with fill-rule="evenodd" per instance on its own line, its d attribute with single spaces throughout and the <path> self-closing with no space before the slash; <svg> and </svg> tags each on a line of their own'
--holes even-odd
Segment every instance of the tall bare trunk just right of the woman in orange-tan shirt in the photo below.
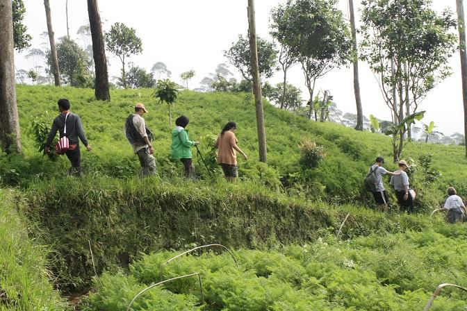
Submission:
<svg viewBox="0 0 467 311">
<path fill-rule="evenodd" d="M 258 67 L 258 47 L 256 47 L 256 22 L 254 18 L 254 0 L 248 0 L 249 54 L 252 62 L 254 102 L 256 105 L 256 127 L 258 128 L 259 160 L 266 162 L 266 132 L 261 95 L 261 81 Z"/>
</svg>

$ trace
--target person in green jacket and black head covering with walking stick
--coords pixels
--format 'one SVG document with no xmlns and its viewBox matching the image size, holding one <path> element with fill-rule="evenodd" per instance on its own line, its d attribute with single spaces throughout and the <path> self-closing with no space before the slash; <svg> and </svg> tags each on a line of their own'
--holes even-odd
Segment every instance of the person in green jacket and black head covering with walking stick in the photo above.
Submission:
<svg viewBox="0 0 467 311">
<path fill-rule="evenodd" d="M 172 131 L 172 159 L 180 159 L 185 167 L 186 178 L 195 179 L 195 167 L 193 167 L 191 148 L 199 144 L 192 142 L 188 138 L 188 131 L 185 129 L 190 120 L 182 115 L 175 120 L 174 131 Z"/>
</svg>

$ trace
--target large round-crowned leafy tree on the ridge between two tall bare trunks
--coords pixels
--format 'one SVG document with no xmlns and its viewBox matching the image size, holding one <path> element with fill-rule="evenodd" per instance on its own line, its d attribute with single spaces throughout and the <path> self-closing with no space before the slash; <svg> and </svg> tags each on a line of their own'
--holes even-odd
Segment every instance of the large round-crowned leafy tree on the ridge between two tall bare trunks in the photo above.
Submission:
<svg viewBox="0 0 467 311">
<path fill-rule="evenodd" d="M 350 59 L 350 31 L 335 4 L 335 0 L 295 0 L 272 10 L 272 33 L 301 63 L 310 100 L 316 80 Z M 310 106 L 309 119 L 312 112 Z"/>
</svg>

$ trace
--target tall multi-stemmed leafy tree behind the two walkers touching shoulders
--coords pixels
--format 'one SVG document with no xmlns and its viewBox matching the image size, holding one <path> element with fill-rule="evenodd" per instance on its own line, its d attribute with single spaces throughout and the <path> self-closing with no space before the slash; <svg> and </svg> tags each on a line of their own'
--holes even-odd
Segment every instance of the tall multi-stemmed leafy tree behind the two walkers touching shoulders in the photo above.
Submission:
<svg viewBox="0 0 467 311">
<path fill-rule="evenodd" d="M 410 117 L 406 107 L 417 112 L 427 93 L 451 72 L 446 64 L 456 49 L 451 31 L 456 21 L 448 10 L 438 14 L 431 4 L 431 0 L 362 1 L 361 55 L 379 76 L 384 101 L 399 124 L 389 132 L 394 160 L 400 158 L 410 126 L 403 125 L 404 117 Z"/>
</svg>

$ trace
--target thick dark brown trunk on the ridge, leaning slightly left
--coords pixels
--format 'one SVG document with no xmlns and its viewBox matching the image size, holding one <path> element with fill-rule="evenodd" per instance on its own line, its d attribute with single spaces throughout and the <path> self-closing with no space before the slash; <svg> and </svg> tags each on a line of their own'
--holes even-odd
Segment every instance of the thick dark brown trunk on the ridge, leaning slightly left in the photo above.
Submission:
<svg viewBox="0 0 467 311">
<path fill-rule="evenodd" d="M 102 33 L 101 16 L 97 0 L 88 0 L 89 26 L 92 37 L 92 55 L 96 73 L 95 96 L 99 101 L 110 101 L 108 90 L 108 73 L 104 34 Z"/>
</svg>

